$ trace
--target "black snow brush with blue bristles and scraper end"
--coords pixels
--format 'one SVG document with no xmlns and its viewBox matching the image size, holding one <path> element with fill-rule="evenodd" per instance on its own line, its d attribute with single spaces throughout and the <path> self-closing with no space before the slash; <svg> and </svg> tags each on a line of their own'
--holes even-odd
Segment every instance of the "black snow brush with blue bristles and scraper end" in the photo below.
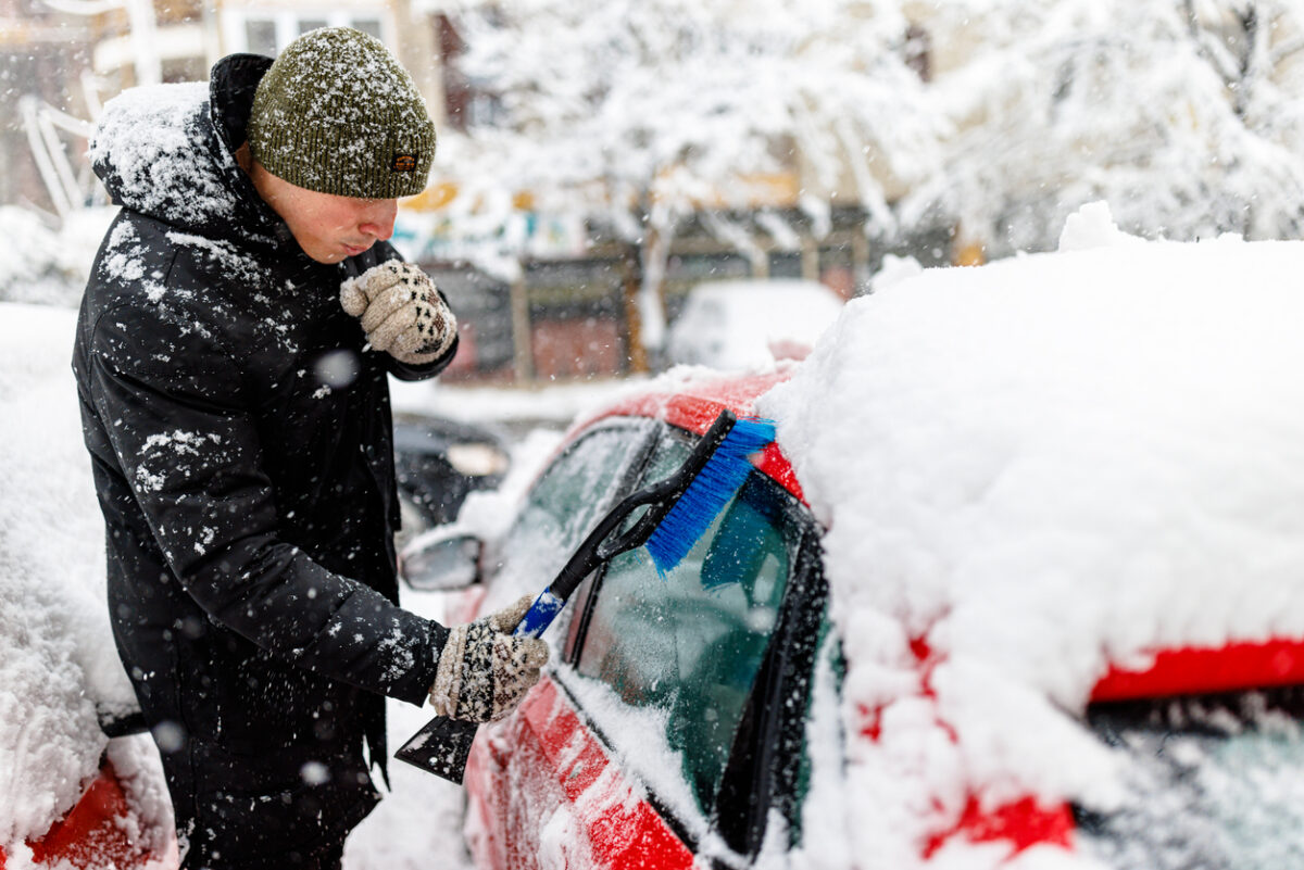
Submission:
<svg viewBox="0 0 1304 870">
<path fill-rule="evenodd" d="M 674 474 L 631 494 L 602 517 L 512 633 L 542 634 L 585 577 L 605 561 L 636 547 L 647 546 L 657 574 L 664 578 L 689 555 L 746 482 L 752 469 L 747 457 L 773 440 L 772 421 L 739 419 L 730 410 L 721 412 Z M 643 516 L 623 534 L 615 534 L 643 507 L 647 508 Z M 436 716 L 394 757 L 460 783 L 476 728 L 473 722 Z"/>
</svg>

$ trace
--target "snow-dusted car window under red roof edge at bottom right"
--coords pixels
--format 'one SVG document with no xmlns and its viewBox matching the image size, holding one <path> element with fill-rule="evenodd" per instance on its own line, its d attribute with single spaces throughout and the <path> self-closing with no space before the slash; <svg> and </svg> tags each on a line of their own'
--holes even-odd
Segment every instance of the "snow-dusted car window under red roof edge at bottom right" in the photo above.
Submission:
<svg viewBox="0 0 1304 870">
<path fill-rule="evenodd" d="M 1077 810 L 1119 870 L 1304 866 L 1304 688 L 1093 705 L 1132 763 L 1110 811 Z"/>
</svg>

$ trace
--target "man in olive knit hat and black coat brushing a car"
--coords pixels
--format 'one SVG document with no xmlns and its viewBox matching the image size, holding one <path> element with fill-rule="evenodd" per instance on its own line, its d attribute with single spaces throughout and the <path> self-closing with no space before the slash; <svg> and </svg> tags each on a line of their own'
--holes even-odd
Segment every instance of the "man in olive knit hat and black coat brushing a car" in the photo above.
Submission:
<svg viewBox="0 0 1304 870">
<path fill-rule="evenodd" d="M 121 212 L 73 367 L 183 866 L 336 867 L 378 800 L 383 695 L 482 722 L 546 660 L 510 636 L 528 602 L 451 630 L 396 606 L 386 378 L 458 344 L 385 241 L 433 125 L 379 42 L 323 29 L 119 96 L 91 152 Z"/>
</svg>

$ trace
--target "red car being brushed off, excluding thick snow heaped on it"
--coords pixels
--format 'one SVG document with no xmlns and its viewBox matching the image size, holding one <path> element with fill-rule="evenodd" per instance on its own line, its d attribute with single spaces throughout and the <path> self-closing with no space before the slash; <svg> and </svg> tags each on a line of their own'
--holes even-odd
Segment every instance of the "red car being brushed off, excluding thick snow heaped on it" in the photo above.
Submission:
<svg viewBox="0 0 1304 870">
<path fill-rule="evenodd" d="M 466 598 L 467 617 L 486 598 L 542 589 L 605 508 L 673 470 L 721 409 L 748 414 L 786 376 L 696 380 L 622 400 L 571 430 L 503 539 L 417 540 L 404 554 L 406 577 L 432 587 L 451 570 L 450 554 L 475 559 L 475 570 L 460 565 L 481 583 Z M 955 771 L 947 793 L 928 798 L 935 823 L 906 861 L 816 841 L 831 819 L 812 815 L 814 792 L 845 785 L 827 771 L 857 763 L 884 725 L 868 703 L 850 716 L 858 733 L 816 715 L 820 705 L 837 709 L 822 692 L 846 690 L 825 530 L 777 447 L 754 464 L 666 578 L 639 551 L 591 576 L 549 629 L 554 667 L 515 712 L 480 729 L 466 774 L 477 867 L 790 866 L 798 852 L 828 866 L 945 866 L 957 848 L 982 856 L 968 866 L 1039 866 L 1038 856 L 1116 867 L 1294 866 L 1304 856 L 1304 801 L 1283 800 L 1304 789 L 1297 641 L 1158 650 L 1140 668 L 1112 666 L 1077 716 L 1084 733 L 1131 759 L 1137 791 L 1112 804 L 1047 804 L 1031 793 L 991 801 Z M 957 741 L 931 686 L 944 656 L 926 634 L 909 649 L 921 731 Z M 1254 791 L 1273 767 L 1281 787 L 1282 766 L 1299 783 L 1288 794 Z M 1257 827 L 1210 792 L 1205 775 L 1261 810 Z M 891 785 L 885 797 L 897 797 Z M 840 798 L 825 793 L 819 806 L 831 800 Z M 845 800 L 862 798 L 853 791 Z M 1257 863 L 1264 843 L 1290 860 Z M 1055 866 L 1102 866 L 1093 862 Z"/>
</svg>

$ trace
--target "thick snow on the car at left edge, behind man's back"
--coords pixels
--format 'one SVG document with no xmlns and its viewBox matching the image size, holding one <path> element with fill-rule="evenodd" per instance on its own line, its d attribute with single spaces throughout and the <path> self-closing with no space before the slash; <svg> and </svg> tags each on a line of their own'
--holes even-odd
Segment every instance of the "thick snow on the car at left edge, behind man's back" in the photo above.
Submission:
<svg viewBox="0 0 1304 870">
<path fill-rule="evenodd" d="M 96 707 L 134 705 L 104 603 L 104 527 L 69 366 L 74 320 L 0 303 L 0 848 L 10 854 L 98 770 Z M 167 811 L 147 753 L 115 749 L 113 761 L 140 780 L 145 818 Z"/>
</svg>

